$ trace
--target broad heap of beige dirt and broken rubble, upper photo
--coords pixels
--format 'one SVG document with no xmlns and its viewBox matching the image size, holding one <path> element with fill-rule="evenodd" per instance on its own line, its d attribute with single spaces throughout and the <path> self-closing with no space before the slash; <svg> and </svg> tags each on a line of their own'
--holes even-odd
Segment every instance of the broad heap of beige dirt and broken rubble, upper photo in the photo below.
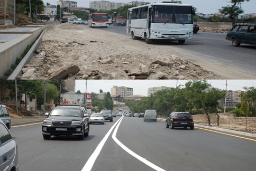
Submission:
<svg viewBox="0 0 256 171">
<path fill-rule="evenodd" d="M 222 79 L 173 46 L 63 23 L 45 32 L 20 79 Z"/>
</svg>

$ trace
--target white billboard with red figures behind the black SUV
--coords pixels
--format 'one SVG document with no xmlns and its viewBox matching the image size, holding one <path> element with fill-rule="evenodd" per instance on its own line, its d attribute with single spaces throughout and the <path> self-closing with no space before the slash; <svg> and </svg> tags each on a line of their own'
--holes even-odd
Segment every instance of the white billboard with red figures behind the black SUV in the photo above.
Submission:
<svg viewBox="0 0 256 171">
<path fill-rule="evenodd" d="M 83 105 L 83 94 L 60 94 L 60 104 Z"/>
</svg>

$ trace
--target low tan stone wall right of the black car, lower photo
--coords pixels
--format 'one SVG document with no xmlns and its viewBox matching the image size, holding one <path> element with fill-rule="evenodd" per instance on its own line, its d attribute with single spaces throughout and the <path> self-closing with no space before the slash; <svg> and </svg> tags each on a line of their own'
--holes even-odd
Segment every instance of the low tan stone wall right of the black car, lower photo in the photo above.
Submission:
<svg viewBox="0 0 256 171">
<path fill-rule="evenodd" d="M 247 125 L 250 127 L 256 127 L 256 117 L 236 117 L 233 113 L 218 113 L 220 115 L 220 125 L 243 125 L 246 126 L 246 120 Z M 216 125 L 217 124 L 217 117 L 215 113 L 209 114 L 209 118 L 211 120 L 211 124 Z M 207 123 L 208 119 L 206 115 L 193 115 L 193 120 L 196 123 Z"/>
</svg>

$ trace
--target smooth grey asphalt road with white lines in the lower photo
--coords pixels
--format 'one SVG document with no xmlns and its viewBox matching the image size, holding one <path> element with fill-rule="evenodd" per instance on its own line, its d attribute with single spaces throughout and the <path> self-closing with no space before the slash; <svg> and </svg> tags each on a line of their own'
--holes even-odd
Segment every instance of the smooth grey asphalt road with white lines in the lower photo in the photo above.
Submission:
<svg viewBox="0 0 256 171">
<path fill-rule="evenodd" d="M 163 121 L 116 117 L 90 125 L 89 136 L 44 140 L 42 124 L 13 126 L 20 170 L 254 170 L 256 139 Z M 105 138 L 104 138 L 105 137 Z"/>
</svg>

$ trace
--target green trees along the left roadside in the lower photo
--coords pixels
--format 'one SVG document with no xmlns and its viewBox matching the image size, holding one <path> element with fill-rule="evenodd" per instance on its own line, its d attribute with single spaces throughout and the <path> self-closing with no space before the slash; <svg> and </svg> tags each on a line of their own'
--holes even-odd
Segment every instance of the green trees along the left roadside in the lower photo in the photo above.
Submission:
<svg viewBox="0 0 256 171">
<path fill-rule="evenodd" d="M 45 82 L 46 92 L 45 101 L 50 103 L 53 100 L 54 103 L 59 104 L 60 93 L 68 92 L 65 87 L 65 81 L 63 80 L 48 80 Z M 0 80 L 1 91 L 9 90 L 8 97 L 4 97 L 3 100 L 16 101 L 16 88 L 15 80 Z M 30 99 L 35 98 L 36 94 L 36 106 L 37 109 L 41 109 L 41 105 L 44 103 L 44 81 L 43 80 L 17 80 L 17 100 L 22 99 L 22 94 L 25 94 L 25 108 L 26 108 L 26 96 Z"/>
</svg>

